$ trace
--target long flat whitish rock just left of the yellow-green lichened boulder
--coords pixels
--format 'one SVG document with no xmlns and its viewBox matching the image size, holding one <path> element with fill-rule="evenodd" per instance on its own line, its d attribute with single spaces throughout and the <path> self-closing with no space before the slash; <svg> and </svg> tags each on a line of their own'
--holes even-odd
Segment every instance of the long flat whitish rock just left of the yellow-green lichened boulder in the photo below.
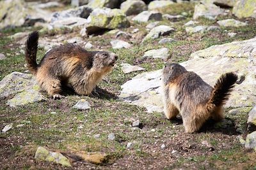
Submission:
<svg viewBox="0 0 256 170">
<path fill-rule="evenodd" d="M 83 26 L 87 23 L 85 18 L 80 17 L 68 17 L 68 18 L 61 18 L 60 20 L 56 20 L 49 24 L 48 29 L 56 29 L 56 28 L 68 28 L 73 29 L 74 27 Z"/>
</svg>

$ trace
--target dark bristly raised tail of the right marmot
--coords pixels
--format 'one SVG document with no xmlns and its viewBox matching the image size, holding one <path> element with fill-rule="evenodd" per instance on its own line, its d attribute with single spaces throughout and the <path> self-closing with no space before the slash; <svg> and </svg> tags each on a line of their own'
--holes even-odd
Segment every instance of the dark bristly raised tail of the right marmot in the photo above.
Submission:
<svg viewBox="0 0 256 170">
<path fill-rule="evenodd" d="M 208 104 L 214 104 L 215 106 L 225 104 L 236 81 L 237 75 L 235 73 L 222 74 L 214 85 Z"/>
</svg>

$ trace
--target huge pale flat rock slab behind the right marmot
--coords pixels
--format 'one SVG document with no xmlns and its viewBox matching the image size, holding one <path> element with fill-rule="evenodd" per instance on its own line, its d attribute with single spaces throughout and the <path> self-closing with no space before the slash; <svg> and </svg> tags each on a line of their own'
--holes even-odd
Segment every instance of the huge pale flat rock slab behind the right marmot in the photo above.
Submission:
<svg viewBox="0 0 256 170">
<path fill-rule="evenodd" d="M 181 65 L 194 71 L 214 86 L 221 74 L 236 72 L 236 85 L 225 107 L 246 107 L 256 103 L 256 38 L 214 45 L 191 54 L 191 60 Z M 161 100 L 161 69 L 141 73 L 122 85 L 120 98 L 131 104 L 144 106 L 148 112 L 163 111 Z"/>
</svg>

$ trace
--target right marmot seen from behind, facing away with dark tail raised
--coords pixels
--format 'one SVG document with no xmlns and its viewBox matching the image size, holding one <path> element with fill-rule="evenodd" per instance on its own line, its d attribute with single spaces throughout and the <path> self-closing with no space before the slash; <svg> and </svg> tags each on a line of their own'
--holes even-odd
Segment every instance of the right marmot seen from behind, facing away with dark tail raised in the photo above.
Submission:
<svg viewBox="0 0 256 170">
<path fill-rule="evenodd" d="M 166 64 L 162 75 L 164 114 L 171 119 L 180 113 L 186 132 L 198 131 L 208 118 L 224 118 L 223 104 L 236 81 L 236 74 L 226 73 L 212 88 L 179 64 Z"/>
</svg>

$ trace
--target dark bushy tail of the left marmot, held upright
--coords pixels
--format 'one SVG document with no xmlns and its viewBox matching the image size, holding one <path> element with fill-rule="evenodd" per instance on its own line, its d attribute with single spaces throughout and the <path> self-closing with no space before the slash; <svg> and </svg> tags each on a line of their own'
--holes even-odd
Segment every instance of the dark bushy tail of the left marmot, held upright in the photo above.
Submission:
<svg viewBox="0 0 256 170">
<path fill-rule="evenodd" d="M 31 71 L 33 74 L 36 74 L 37 71 L 36 52 L 38 46 L 38 38 L 39 34 L 37 31 L 31 32 L 26 43 L 26 61 L 29 71 Z"/>
</svg>

